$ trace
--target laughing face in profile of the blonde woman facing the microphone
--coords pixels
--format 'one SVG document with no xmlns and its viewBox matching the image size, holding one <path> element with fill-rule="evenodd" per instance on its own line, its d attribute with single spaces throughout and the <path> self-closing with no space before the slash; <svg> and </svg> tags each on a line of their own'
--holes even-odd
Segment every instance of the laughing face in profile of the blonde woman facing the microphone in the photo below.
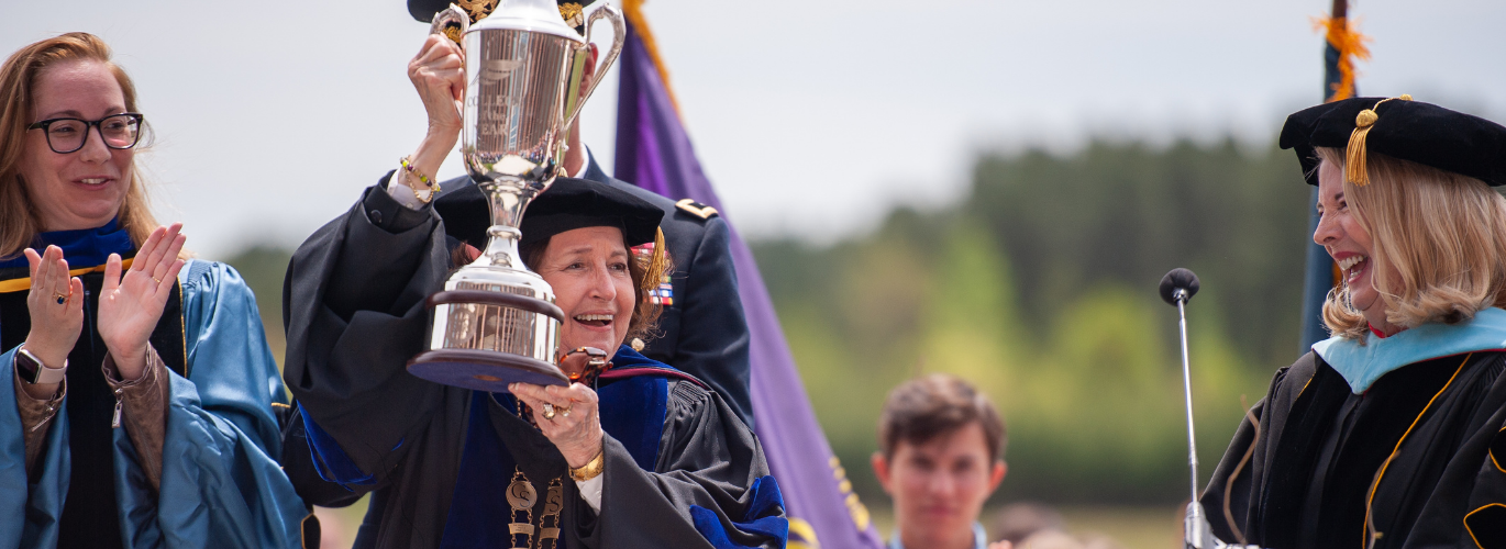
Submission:
<svg viewBox="0 0 1506 549">
<path fill-rule="evenodd" d="M 1343 171 L 1333 162 L 1318 167 L 1318 230 L 1313 242 L 1324 247 L 1343 271 L 1349 287 L 1349 304 L 1364 314 L 1376 329 L 1387 331 L 1386 305 L 1375 289 L 1373 242 L 1360 224 L 1351 200 L 1345 197 Z"/>
</svg>

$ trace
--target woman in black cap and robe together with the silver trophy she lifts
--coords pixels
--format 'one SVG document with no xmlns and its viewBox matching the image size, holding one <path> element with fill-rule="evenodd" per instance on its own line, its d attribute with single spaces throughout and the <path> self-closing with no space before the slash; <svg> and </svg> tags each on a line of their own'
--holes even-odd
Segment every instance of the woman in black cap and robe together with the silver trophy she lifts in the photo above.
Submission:
<svg viewBox="0 0 1506 549">
<path fill-rule="evenodd" d="M 535 12 L 557 14 L 544 6 Z M 492 18 L 530 8 L 512 2 Z M 697 379 L 622 344 L 652 332 L 646 296 L 667 262 L 646 245 L 663 211 L 556 179 L 566 81 L 541 78 L 571 71 L 539 69 L 521 48 L 473 50 L 553 38 L 476 33 L 464 51 L 428 38 L 408 71 L 429 114 L 419 149 L 289 265 L 285 376 L 319 477 L 295 483 L 373 493 L 358 547 L 783 546 L 783 504 L 753 433 Z M 503 50 L 517 57 L 479 57 Z M 544 110 L 492 116 L 520 105 Z M 511 146 L 495 137 L 538 129 L 485 156 Z M 435 190 L 432 170 L 462 131 L 483 184 Z M 488 238 L 485 250 L 465 244 Z M 508 347 L 517 341 L 527 344 Z M 509 350 L 538 344 L 548 355 Z"/>
</svg>

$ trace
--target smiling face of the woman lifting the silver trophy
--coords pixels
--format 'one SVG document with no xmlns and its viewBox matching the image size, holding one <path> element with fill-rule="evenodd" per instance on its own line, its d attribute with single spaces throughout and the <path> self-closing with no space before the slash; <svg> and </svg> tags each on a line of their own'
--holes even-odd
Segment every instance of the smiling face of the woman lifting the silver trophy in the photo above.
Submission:
<svg viewBox="0 0 1506 549">
<path fill-rule="evenodd" d="M 572 229 L 550 238 L 535 271 L 554 287 L 554 304 L 565 311 L 560 349 L 616 353 L 633 319 L 631 260 L 617 227 Z"/>
</svg>

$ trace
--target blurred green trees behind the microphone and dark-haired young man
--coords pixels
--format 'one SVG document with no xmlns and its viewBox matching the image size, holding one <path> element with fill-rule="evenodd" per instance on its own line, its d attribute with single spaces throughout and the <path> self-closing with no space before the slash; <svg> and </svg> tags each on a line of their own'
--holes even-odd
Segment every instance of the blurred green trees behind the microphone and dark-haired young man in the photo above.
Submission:
<svg viewBox="0 0 1506 549">
<path fill-rule="evenodd" d="M 1187 496 L 1176 313 L 1187 266 L 1203 477 L 1270 375 L 1297 356 L 1307 188 L 1291 153 L 1232 141 L 985 155 L 953 209 L 899 211 L 813 248 L 755 244 L 785 334 L 857 490 L 887 391 L 922 372 L 979 384 L 1009 426 L 1001 498 Z"/>
</svg>

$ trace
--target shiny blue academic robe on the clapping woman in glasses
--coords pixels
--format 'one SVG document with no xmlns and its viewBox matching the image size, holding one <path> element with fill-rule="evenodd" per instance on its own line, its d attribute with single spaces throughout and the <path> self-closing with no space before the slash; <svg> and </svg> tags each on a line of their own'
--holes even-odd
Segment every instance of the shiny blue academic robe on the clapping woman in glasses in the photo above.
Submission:
<svg viewBox="0 0 1506 549">
<path fill-rule="evenodd" d="M 125 429 L 113 429 L 119 513 L 96 526 L 119 528 L 125 547 L 301 547 L 312 514 L 273 457 L 282 447 L 273 405 L 286 406 L 288 394 L 256 299 L 223 263 L 191 260 L 178 281 L 188 378 L 166 381 L 161 490 L 146 480 Z M 0 353 L 5 384 L 15 350 Z M 84 367 L 98 364 L 71 364 Z M 30 481 L 15 388 L 0 390 L 0 546 L 57 544 L 74 459 L 66 405 L 47 429 Z"/>
</svg>

